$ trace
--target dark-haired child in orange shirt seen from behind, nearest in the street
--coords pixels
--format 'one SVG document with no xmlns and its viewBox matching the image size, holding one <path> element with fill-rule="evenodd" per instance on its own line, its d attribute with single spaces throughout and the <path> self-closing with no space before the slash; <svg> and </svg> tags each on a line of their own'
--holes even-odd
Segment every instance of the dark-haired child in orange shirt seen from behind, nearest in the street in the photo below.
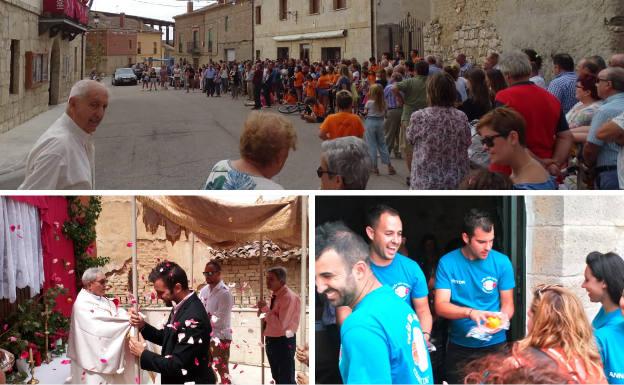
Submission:
<svg viewBox="0 0 624 385">
<path fill-rule="evenodd" d="M 364 124 L 359 116 L 351 113 L 353 97 L 349 91 L 336 93 L 336 107 L 338 112 L 328 115 L 323 124 L 319 137 L 321 140 L 331 140 L 343 136 L 364 136 Z"/>
</svg>

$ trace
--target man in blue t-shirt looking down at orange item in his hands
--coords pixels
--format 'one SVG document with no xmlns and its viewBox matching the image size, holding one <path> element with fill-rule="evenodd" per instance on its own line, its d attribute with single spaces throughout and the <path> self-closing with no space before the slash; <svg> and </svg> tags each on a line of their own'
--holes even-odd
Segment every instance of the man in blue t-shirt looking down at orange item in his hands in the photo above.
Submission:
<svg viewBox="0 0 624 385">
<path fill-rule="evenodd" d="M 436 272 L 435 310 L 451 320 L 445 358 L 445 380 L 463 383 L 465 364 L 505 345 L 505 330 L 494 331 L 489 341 L 466 335 L 497 312 L 511 319 L 514 313 L 514 272 L 509 258 L 492 250 L 494 223 L 483 211 L 472 209 L 464 217 L 465 246 L 440 259 Z"/>
</svg>

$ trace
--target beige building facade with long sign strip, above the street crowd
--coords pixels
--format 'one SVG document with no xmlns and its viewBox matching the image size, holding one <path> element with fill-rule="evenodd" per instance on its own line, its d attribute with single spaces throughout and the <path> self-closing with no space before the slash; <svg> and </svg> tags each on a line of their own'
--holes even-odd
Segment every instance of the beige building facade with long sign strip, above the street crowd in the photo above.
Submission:
<svg viewBox="0 0 624 385">
<path fill-rule="evenodd" d="M 275 59 L 278 47 L 288 47 L 289 56 L 299 58 L 301 44 L 309 44 L 310 60 L 321 59 L 322 48 L 340 47 L 342 58 L 355 57 L 360 61 L 371 56 L 371 9 L 370 2 L 347 0 L 347 8 L 334 10 L 333 0 L 321 0 L 318 14 L 310 14 L 309 1 L 292 0 L 288 2 L 286 20 L 279 19 L 279 2 L 275 0 L 256 0 L 255 6 L 262 9 L 262 23 L 254 23 L 255 50 L 260 58 Z M 295 13 L 296 12 L 296 13 Z M 306 34 L 313 32 L 346 29 L 343 38 L 297 39 L 288 42 L 276 42 L 273 37 Z"/>
</svg>

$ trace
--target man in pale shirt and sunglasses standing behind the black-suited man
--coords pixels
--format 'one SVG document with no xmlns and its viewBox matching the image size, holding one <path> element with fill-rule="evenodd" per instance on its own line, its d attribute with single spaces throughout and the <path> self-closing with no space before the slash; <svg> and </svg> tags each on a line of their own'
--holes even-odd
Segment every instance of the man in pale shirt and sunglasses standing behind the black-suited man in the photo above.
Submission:
<svg viewBox="0 0 624 385">
<path fill-rule="evenodd" d="M 230 360 L 230 344 L 232 343 L 232 329 L 230 320 L 234 299 L 230 289 L 221 280 L 221 265 L 210 261 L 204 268 L 204 277 L 207 285 L 199 292 L 212 325 L 213 337 L 210 340 L 210 351 L 215 369 L 219 373 L 222 384 L 230 384 L 228 363 Z"/>
</svg>

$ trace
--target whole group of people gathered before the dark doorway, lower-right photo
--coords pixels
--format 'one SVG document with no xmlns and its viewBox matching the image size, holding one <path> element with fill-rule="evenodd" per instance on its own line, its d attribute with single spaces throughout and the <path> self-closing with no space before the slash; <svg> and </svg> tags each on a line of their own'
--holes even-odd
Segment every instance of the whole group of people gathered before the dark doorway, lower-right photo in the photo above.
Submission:
<svg viewBox="0 0 624 385">
<path fill-rule="evenodd" d="M 363 230 L 368 244 L 341 222 L 316 228 L 317 383 L 624 382 L 619 255 L 589 253 L 579 288 L 537 285 L 510 341 L 515 273 L 489 213 L 469 210 L 443 252 L 425 236 L 418 257 L 390 206 L 369 208 Z M 601 305 L 591 322 L 581 288 Z"/>
</svg>

